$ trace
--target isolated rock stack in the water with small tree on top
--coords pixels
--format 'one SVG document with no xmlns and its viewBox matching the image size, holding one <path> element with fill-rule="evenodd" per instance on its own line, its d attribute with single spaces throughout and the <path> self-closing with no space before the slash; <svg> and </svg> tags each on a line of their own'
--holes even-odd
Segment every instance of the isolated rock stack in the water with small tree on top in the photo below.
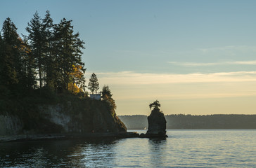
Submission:
<svg viewBox="0 0 256 168">
<path fill-rule="evenodd" d="M 149 104 L 150 109 L 153 107 L 153 110 L 151 115 L 148 116 L 148 131 L 146 134 L 141 134 L 140 137 L 167 137 L 165 115 L 160 111 L 160 106 L 158 100 Z"/>
</svg>

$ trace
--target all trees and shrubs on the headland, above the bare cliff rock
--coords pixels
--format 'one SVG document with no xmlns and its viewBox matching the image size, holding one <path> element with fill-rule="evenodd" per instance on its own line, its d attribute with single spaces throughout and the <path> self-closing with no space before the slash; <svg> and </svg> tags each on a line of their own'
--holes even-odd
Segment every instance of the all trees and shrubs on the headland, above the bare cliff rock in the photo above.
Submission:
<svg viewBox="0 0 256 168">
<path fill-rule="evenodd" d="M 102 100 L 87 97 L 84 41 L 73 31 L 71 22 L 63 18 L 53 24 L 49 11 L 44 18 L 36 12 L 27 25 L 28 35 L 20 37 L 11 19 L 4 21 L 0 31 L 0 115 L 18 116 L 24 129 L 30 130 L 44 123 L 39 106 L 72 102 L 70 113 L 104 110 L 125 128 L 115 114 L 108 86 L 103 87 Z M 98 89 L 93 73 L 89 90 Z"/>
</svg>

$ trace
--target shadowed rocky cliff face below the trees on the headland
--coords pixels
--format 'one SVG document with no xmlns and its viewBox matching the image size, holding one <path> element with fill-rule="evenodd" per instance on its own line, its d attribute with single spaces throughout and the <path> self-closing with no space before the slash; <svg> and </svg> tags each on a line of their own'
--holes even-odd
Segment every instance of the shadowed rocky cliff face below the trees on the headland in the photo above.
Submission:
<svg viewBox="0 0 256 168">
<path fill-rule="evenodd" d="M 115 111 L 103 101 L 77 97 L 56 104 L 36 104 L 27 111 L 30 112 L 1 115 L 0 134 L 127 131 Z"/>
</svg>

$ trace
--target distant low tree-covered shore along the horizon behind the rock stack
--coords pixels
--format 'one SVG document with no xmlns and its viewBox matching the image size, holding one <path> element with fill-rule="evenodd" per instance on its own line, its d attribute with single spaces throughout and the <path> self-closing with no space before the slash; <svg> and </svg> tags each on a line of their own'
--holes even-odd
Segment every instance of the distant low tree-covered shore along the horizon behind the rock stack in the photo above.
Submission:
<svg viewBox="0 0 256 168">
<path fill-rule="evenodd" d="M 147 116 L 119 116 L 128 130 L 148 128 Z M 256 115 L 216 114 L 192 116 L 175 114 L 165 116 L 167 129 L 256 129 Z"/>
</svg>

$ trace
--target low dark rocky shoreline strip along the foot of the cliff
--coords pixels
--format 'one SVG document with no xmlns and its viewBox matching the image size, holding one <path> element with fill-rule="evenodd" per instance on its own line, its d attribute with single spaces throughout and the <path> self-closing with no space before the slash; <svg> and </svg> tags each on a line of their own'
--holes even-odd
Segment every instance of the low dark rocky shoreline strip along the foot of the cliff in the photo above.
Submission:
<svg viewBox="0 0 256 168">
<path fill-rule="evenodd" d="M 103 132 L 103 133 L 72 133 L 72 134 L 20 134 L 20 135 L 1 135 L 1 142 L 11 141 L 37 141 L 48 139 L 98 139 L 98 138 L 136 138 L 139 137 L 137 132 Z"/>
</svg>

